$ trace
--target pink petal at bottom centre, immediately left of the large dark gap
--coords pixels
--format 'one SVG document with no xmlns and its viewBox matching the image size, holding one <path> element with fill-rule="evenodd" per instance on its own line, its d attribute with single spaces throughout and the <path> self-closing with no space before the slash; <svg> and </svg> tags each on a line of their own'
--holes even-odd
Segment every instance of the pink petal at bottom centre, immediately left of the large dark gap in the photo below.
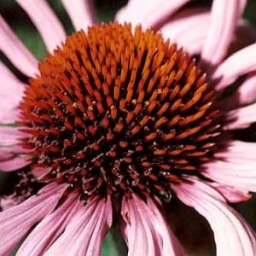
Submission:
<svg viewBox="0 0 256 256">
<path fill-rule="evenodd" d="M 128 256 L 184 255 L 182 247 L 151 199 L 148 198 L 147 205 L 137 195 L 132 195 L 131 199 L 124 198 L 121 214 Z"/>
</svg>

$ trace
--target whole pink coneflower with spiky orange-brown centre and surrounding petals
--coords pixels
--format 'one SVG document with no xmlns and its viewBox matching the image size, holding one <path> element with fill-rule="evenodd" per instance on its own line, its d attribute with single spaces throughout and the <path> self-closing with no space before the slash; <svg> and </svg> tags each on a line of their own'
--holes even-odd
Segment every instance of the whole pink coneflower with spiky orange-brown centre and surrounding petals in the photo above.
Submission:
<svg viewBox="0 0 256 256">
<path fill-rule="evenodd" d="M 17 3 L 49 55 L 38 63 L 0 18 L 0 49 L 29 77 L 0 63 L 0 169 L 19 177 L 1 198 L 0 255 L 23 237 L 17 255 L 100 255 L 113 216 L 128 255 L 185 255 L 172 196 L 207 218 L 218 255 L 255 255 L 229 204 L 256 191 L 256 144 L 234 132 L 256 121 L 246 1 L 131 0 L 95 25 L 90 3 L 62 0 L 79 31 L 68 38 L 44 0 Z"/>
</svg>

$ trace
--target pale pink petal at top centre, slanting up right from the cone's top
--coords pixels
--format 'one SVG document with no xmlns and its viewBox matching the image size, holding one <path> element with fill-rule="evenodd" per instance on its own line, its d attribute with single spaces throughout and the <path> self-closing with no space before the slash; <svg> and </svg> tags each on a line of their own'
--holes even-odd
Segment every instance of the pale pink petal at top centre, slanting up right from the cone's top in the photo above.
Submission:
<svg viewBox="0 0 256 256">
<path fill-rule="evenodd" d="M 125 7 L 119 10 L 115 19 L 119 22 L 131 22 L 133 25 L 142 24 L 144 28 L 154 27 L 160 21 L 173 15 L 190 0 L 130 0 Z"/>
</svg>

